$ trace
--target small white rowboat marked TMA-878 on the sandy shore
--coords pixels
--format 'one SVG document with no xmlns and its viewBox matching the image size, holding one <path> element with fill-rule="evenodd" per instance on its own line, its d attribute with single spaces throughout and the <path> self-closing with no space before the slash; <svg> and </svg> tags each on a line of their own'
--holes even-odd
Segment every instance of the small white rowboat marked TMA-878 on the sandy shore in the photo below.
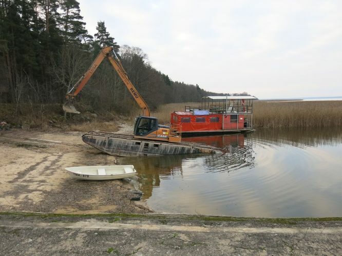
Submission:
<svg viewBox="0 0 342 256">
<path fill-rule="evenodd" d="M 65 168 L 71 178 L 80 180 L 115 180 L 135 176 L 133 165 L 96 165 Z"/>
</svg>

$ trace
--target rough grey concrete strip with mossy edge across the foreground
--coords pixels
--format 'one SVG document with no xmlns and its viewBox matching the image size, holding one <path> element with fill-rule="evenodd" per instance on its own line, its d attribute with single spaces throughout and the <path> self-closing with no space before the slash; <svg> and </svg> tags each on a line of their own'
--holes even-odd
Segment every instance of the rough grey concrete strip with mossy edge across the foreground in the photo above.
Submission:
<svg viewBox="0 0 342 256">
<path fill-rule="evenodd" d="M 341 255 L 342 219 L 0 214 L 3 255 Z"/>
</svg>

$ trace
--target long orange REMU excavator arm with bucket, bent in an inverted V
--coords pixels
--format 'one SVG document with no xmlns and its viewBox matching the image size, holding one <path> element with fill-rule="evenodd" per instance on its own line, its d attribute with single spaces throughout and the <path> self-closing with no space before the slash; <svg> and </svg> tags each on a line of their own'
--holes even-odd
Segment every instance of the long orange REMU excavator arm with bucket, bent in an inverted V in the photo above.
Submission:
<svg viewBox="0 0 342 256">
<path fill-rule="evenodd" d="M 97 68 L 100 66 L 103 59 L 107 57 L 112 67 L 117 71 L 118 75 L 124 82 L 125 86 L 127 87 L 129 93 L 132 95 L 132 97 L 135 99 L 135 101 L 138 103 L 142 110 L 143 116 L 150 116 L 149 108 L 144 101 L 144 99 L 140 96 L 137 89 L 134 87 L 132 82 L 129 80 L 128 75 L 126 71 L 124 70 L 118 56 L 113 51 L 112 47 L 105 47 L 103 48 L 99 55 L 96 57 L 96 59 L 92 62 L 90 68 L 87 70 L 87 72 L 80 78 L 80 80 L 75 83 L 75 85 L 71 88 L 71 90 L 66 94 L 66 101 L 63 105 L 63 110 L 66 113 L 74 113 L 74 114 L 80 114 L 79 111 L 75 109 L 75 107 L 72 104 L 72 100 L 74 97 L 76 97 L 83 87 L 86 85 L 92 74 L 97 70 Z"/>
</svg>

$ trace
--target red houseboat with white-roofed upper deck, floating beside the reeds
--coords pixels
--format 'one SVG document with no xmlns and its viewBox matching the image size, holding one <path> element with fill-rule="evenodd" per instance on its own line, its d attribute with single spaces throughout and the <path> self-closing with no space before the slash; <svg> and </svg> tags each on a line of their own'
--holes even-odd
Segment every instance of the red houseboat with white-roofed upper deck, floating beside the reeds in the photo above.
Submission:
<svg viewBox="0 0 342 256">
<path fill-rule="evenodd" d="M 205 96 L 200 105 L 186 105 L 171 114 L 182 136 L 253 132 L 253 96 Z"/>
</svg>

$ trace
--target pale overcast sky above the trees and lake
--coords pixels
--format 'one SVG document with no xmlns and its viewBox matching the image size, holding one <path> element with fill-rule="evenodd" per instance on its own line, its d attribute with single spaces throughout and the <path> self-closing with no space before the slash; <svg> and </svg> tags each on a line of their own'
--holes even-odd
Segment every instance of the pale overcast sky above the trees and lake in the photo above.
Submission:
<svg viewBox="0 0 342 256">
<path fill-rule="evenodd" d="M 258 98 L 342 96 L 342 1 L 79 0 L 174 81 Z"/>
</svg>

